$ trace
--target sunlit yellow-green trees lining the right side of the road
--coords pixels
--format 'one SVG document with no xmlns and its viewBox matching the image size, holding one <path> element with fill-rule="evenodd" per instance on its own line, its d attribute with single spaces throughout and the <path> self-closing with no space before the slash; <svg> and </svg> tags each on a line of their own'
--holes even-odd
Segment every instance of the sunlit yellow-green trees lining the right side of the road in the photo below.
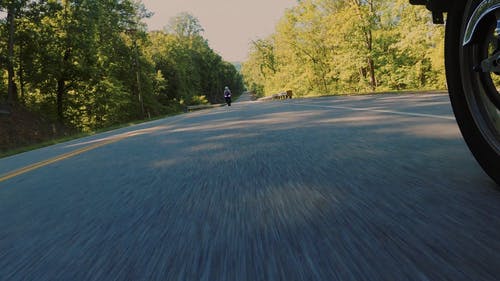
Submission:
<svg viewBox="0 0 500 281">
<path fill-rule="evenodd" d="M 260 95 L 444 89 L 443 38 L 408 0 L 302 0 L 252 42 L 242 73 Z"/>
</svg>

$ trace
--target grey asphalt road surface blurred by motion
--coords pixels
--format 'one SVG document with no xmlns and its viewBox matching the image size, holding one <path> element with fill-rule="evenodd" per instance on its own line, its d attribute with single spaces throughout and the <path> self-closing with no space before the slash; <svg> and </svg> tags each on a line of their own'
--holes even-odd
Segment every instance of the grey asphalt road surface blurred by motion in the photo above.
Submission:
<svg viewBox="0 0 500 281">
<path fill-rule="evenodd" d="M 0 174 L 0 280 L 500 279 L 500 192 L 444 95 L 235 103 Z"/>
</svg>

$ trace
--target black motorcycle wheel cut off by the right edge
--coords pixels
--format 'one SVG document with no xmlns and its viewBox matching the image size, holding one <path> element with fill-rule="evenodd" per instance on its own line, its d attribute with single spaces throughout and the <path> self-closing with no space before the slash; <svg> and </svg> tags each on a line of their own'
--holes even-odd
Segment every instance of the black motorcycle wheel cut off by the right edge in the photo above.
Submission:
<svg viewBox="0 0 500 281">
<path fill-rule="evenodd" d="M 446 79 L 453 112 L 472 154 L 500 186 L 500 76 L 477 70 L 483 60 L 499 51 L 495 50 L 496 19 L 486 17 L 473 41 L 463 46 L 464 30 L 481 0 L 453 2 L 445 36 Z"/>
</svg>

